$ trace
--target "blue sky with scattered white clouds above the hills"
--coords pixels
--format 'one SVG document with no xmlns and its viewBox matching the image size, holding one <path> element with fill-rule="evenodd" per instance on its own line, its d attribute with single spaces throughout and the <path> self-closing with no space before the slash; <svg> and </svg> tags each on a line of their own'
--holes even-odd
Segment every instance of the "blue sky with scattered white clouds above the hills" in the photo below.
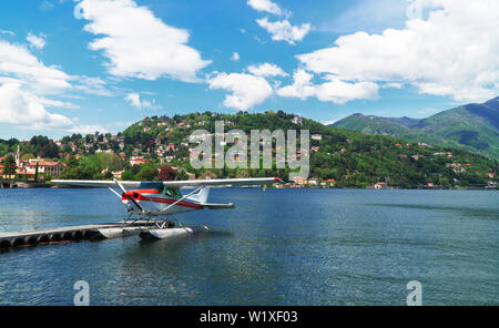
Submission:
<svg viewBox="0 0 499 328">
<path fill-rule="evenodd" d="M 206 110 L 426 117 L 498 93 L 497 0 L 0 3 L 0 139 Z"/>
</svg>

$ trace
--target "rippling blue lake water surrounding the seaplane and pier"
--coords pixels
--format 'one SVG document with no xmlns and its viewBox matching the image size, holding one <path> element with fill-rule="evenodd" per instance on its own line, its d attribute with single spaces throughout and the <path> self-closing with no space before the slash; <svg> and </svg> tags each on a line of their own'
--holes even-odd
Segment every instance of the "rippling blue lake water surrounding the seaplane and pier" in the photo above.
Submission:
<svg viewBox="0 0 499 328">
<path fill-rule="evenodd" d="M 499 305 L 499 193 L 212 189 L 212 227 L 0 253 L 0 305 Z M 106 189 L 0 189 L 0 232 L 123 218 Z"/>
</svg>

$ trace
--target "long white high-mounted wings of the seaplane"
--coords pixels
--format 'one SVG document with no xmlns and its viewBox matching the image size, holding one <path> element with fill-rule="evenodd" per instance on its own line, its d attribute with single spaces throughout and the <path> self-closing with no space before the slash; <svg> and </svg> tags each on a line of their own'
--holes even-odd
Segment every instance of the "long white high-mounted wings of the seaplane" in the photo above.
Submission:
<svg viewBox="0 0 499 328">
<path fill-rule="evenodd" d="M 52 180 L 55 185 L 71 185 L 82 187 L 114 187 L 114 181 L 100 180 Z M 140 181 L 120 181 L 125 188 L 136 188 L 141 184 Z M 248 178 L 215 178 L 215 180 L 184 180 L 184 181 L 163 181 L 163 184 L 171 188 L 181 187 L 201 187 L 201 186 L 254 186 L 283 183 L 278 177 L 248 177 Z"/>
</svg>

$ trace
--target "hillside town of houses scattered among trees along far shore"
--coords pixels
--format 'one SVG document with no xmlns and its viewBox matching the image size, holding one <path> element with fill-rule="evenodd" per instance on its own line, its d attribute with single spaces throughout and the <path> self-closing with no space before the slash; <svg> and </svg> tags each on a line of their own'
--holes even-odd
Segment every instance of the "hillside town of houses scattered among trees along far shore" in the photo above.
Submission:
<svg viewBox="0 0 499 328">
<path fill-rule="evenodd" d="M 279 119 L 281 126 L 275 125 L 275 120 Z M 34 136 L 30 141 L 8 141 L 2 148 L 0 147 L 0 175 L 2 180 L 17 181 L 37 181 L 50 182 L 51 178 L 64 177 L 64 172 L 69 172 L 67 166 L 70 160 L 77 161 L 84 173 L 80 177 L 86 178 L 118 178 L 118 180 L 156 180 L 157 173 L 162 166 L 173 167 L 177 173 L 177 178 L 205 178 L 206 176 L 217 177 L 225 176 L 227 172 L 220 170 L 196 171 L 190 166 L 190 155 L 197 157 L 200 152 L 195 146 L 198 142 L 207 137 L 214 137 L 213 127 L 215 121 L 224 122 L 225 133 L 223 140 L 227 137 L 227 131 L 238 129 L 246 133 L 249 139 L 249 129 L 253 125 L 281 127 L 281 129 L 310 129 L 310 176 L 294 177 L 283 187 L 348 187 L 360 186 L 366 188 L 385 189 L 393 187 L 404 187 L 397 183 L 397 177 L 389 170 L 376 168 L 379 171 L 377 176 L 370 177 L 370 183 L 366 177 L 356 176 L 352 173 L 352 161 L 360 161 L 360 156 L 369 152 L 375 153 L 380 161 L 389 156 L 398 161 L 398 165 L 410 165 L 416 170 L 420 166 L 425 170 L 434 170 L 438 167 L 440 173 L 432 173 L 434 177 L 426 174 L 424 182 L 418 182 L 417 187 L 436 188 L 436 187 L 456 187 L 461 185 L 461 177 L 466 177 L 468 173 L 476 175 L 478 171 L 483 171 L 483 161 L 475 164 L 469 162 L 471 158 L 462 151 L 455 151 L 434 147 L 426 143 L 406 143 L 399 142 L 387 136 L 381 141 L 377 141 L 375 136 L 368 136 L 369 141 L 353 140 L 354 137 L 366 139 L 364 134 L 355 134 L 353 132 L 342 132 L 338 129 L 317 125 L 313 121 L 304 119 L 302 115 L 286 114 L 278 112 L 267 112 L 265 114 L 216 114 L 211 112 L 194 113 L 189 115 L 153 116 L 145 117 L 142 121 L 129 126 L 123 132 L 99 133 L 94 134 L 72 134 L 64 136 L 59 141 L 50 140 L 45 136 Z M 268 122 L 272 122 L 268 123 Z M 253 124 L 253 125 L 252 125 Z M 312 125 L 310 125 L 312 124 Z M 205 132 L 196 134 L 190 139 L 195 130 L 204 130 Z M 241 132 L 237 132 L 241 134 Z M 352 134 L 354 137 L 344 135 Z M 242 134 L 241 134 L 242 136 Z M 237 139 L 236 139 L 237 142 Z M 1 144 L 0 144 L 1 145 Z M 223 142 L 224 147 L 230 144 Z M 13 148 L 14 147 L 14 148 Z M 279 151 L 278 146 L 273 145 L 272 152 Z M 305 150 L 306 151 L 306 150 Z M 465 154 L 465 156 L 462 155 Z M 235 158 L 242 154 L 236 154 Z M 13 157 L 14 163 L 8 162 L 8 157 Z M 287 154 L 289 158 L 301 160 L 302 153 L 298 150 L 296 154 Z M 464 161 L 466 158 L 467 162 Z M 478 158 L 478 157 L 473 157 Z M 211 160 L 213 164 L 216 158 Z M 345 162 L 346 161 L 346 162 Z M 366 161 L 371 161 L 366 157 Z M 77 163 L 74 162 L 74 163 Z M 327 162 L 327 165 L 325 164 Z M 337 164 L 334 164 L 337 163 Z M 342 163 L 347 166 L 340 167 Z M 420 164 L 419 164 L 420 163 Z M 339 165 L 338 165 L 339 164 Z M 373 164 L 373 163 L 371 163 Z M 376 164 L 376 163 L 375 163 Z M 7 170 L 16 166 L 16 171 Z M 367 165 L 364 164 L 364 165 Z M 475 166 L 473 166 L 475 165 Z M 478 165 L 478 166 L 477 166 Z M 355 164 L 353 168 L 357 167 Z M 489 165 L 490 170 L 480 173 L 482 187 L 496 188 L 496 166 Z M 357 168 L 358 170 L 358 168 Z M 91 172 L 91 173 L 89 173 Z M 288 171 L 287 171 L 288 172 Z M 286 172 L 286 174 L 287 174 Z M 444 174 L 444 172 L 447 172 Z M 233 173 L 234 176 L 253 176 L 258 174 L 279 174 L 278 171 L 266 172 L 243 171 L 238 170 Z M 360 172 L 360 174 L 364 174 Z M 446 176 L 446 174 L 448 176 Z M 366 175 L 367 176 L 367 175 Z M 65 176 L 69 177 L 69 176 Z M 78 177 L 78 176 L 73 176 Z M 282 174 L 286 180 L 286 176 Z M 348 182 L 355 177 L 357 182 Z M 471 183 L 468 183 L 472 186 Z M 477 183 L 478 185 L 478 183 Z"/>
</svg>

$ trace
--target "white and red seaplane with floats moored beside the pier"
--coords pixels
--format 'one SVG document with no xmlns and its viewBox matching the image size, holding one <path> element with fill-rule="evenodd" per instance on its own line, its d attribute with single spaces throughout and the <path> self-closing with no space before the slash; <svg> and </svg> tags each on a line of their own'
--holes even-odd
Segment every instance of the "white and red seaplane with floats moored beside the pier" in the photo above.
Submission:
<svg viewBox="0 0 499 328">
<path fill-rule="evenodd" d="M 99 233 L 102 237 L 139 235 L 142 239 L 165 239 L 208 229 L 205 225 L 184 226 L 173 215 L 205 208 L 226 209 L 234 207 L 234 203 L 208 203 L 211 187 L 266 186 L 283 183 L 283 181 L 278 177 L 255 177 L 153 182 L 52 180 L 52 183 L 80 187 L 108 187 L 121 199 L 126 208 L 128 216 L 121 222 L 120 227 L 100 228 Z M 184 195 L 181 193 L 181 188 L 193 188 L 193 191 Z"/>
</svg>

